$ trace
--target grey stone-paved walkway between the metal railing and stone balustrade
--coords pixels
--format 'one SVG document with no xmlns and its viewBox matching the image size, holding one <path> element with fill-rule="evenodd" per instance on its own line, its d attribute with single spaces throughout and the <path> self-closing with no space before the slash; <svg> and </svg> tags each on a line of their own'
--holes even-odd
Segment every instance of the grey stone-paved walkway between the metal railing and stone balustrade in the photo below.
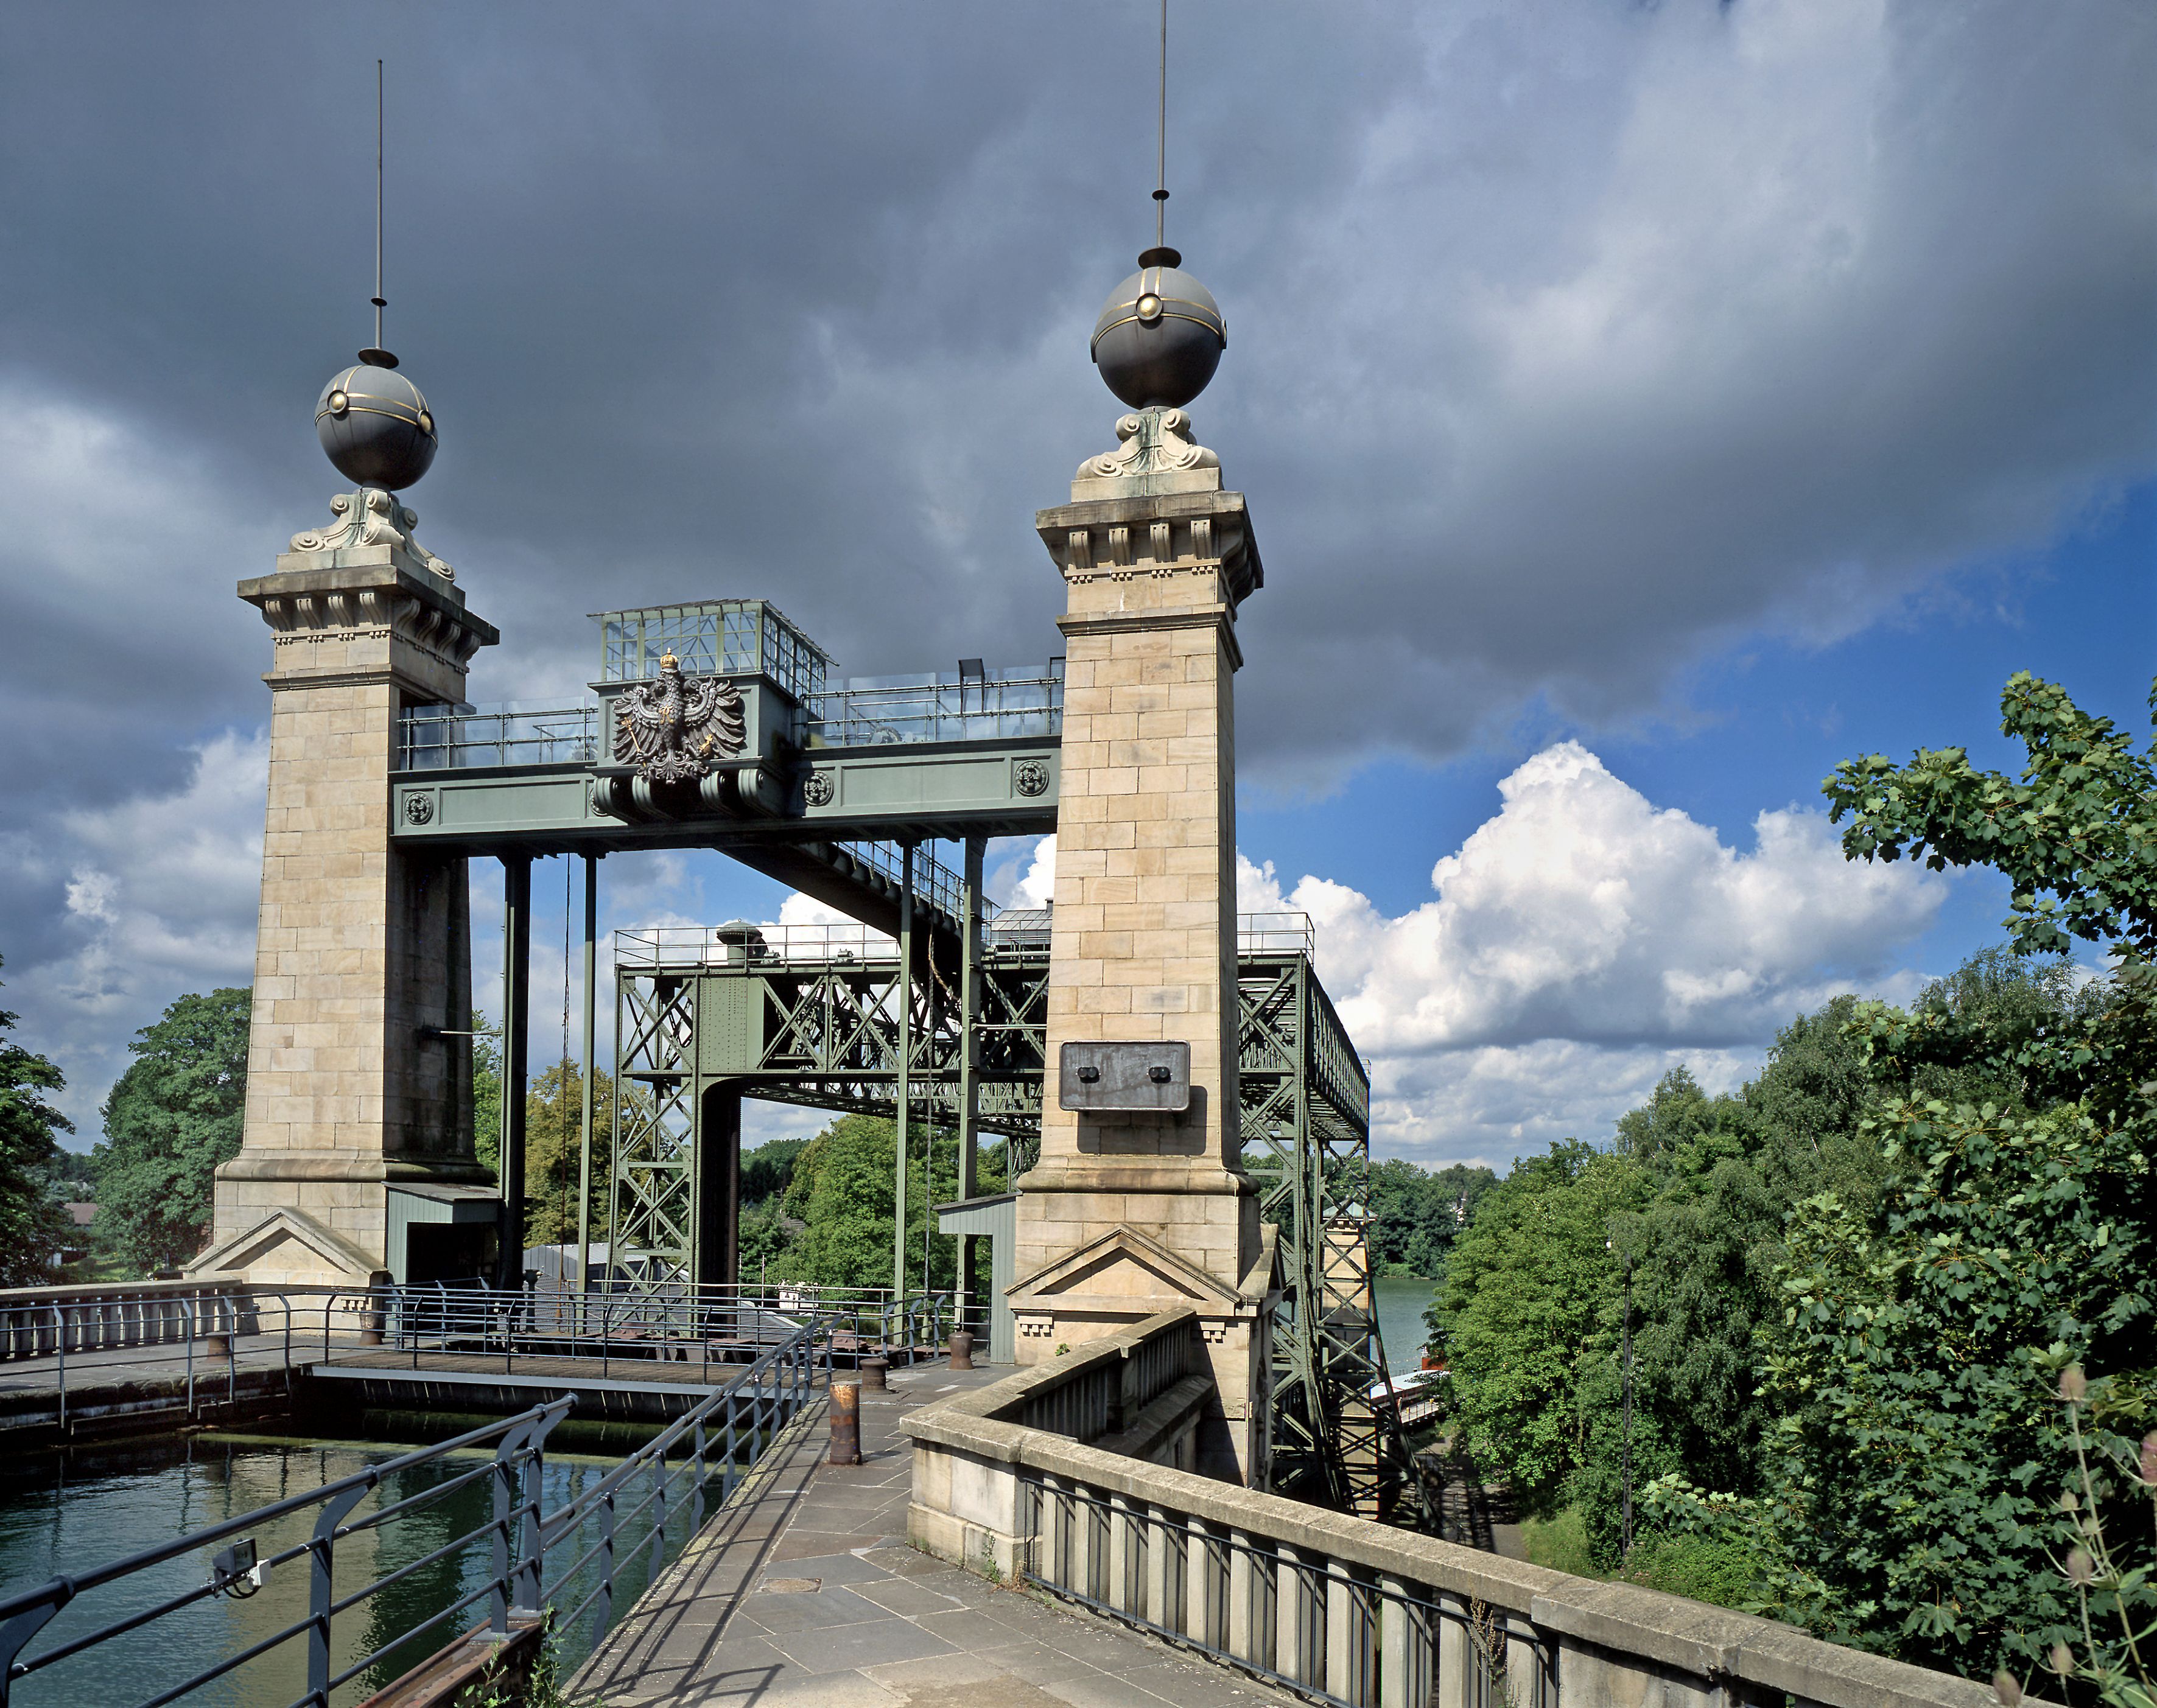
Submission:
<svg viewBox="0 0 2157 1708">
<path fill-rule="evenodd" d="M 902 1372 L 863 1393 L 863 1464 L 802 1415 L 576 1676 L 608 1708 L 1288 1708 L 1290 1697 L 906 1544 L 897 1421 L 1009 1372 Z"/>
</svg>

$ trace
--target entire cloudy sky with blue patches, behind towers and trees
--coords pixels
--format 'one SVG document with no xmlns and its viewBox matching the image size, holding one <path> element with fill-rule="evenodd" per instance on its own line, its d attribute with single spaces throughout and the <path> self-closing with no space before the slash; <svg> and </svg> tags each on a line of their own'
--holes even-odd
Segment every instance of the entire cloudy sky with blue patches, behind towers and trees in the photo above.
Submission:
<svg viewBox="0 0 2157 1708">
<path fill-rule="evenodd" d="M 134 1029 L 248 977 L 270 643 L 233 582 L 336 490 L 375 56 L 388 343 L 444 433 L 410 502 L 503 630 L 472 699 L 544 701 L 619 604 L 774 597 L 858 675 L 1057 649 L 1031 513 L 1113 444 L 1085 339 L 1152 237 L 1152 30 L 0 0 L 0 1003 L 84 1143 Z M 1984 878 L 1846 867 L 1818 781 L 2004 759 L 2017 669 L 2142 718 L 2157 9 L 1176 0 L 1171 35 L 1169 237 L 1232 328 L 1193 414 L 1268 567 L 1242 891 L 1320 921 L 1376 1145 L 1600 1139 L 1672 1063 L 1734 1085 L 1801 1007 L 1991 940 Z M 999 848 L 1005 893 L 1046 858 Z M 604 895 L 787 906 L 699 856 Z M 485 973 L 494 873 L 475 906 Z"/>
</svg>

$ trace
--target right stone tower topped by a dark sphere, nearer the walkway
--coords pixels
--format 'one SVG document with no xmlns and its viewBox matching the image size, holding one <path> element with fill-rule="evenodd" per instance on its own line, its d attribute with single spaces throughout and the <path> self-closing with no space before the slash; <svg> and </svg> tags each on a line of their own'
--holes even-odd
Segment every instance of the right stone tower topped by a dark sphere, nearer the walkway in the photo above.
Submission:
<svg viewBox="0 0 2157 1708">
<path fill-rule="evenodd" d="M 1167 265 L 1126 280 L 1102 315 L 1173 315 Z M 1225 343 L 1225 334 L 1223 343 Z M 1145 1316 L 1193 1307 L 1217 1389 L 1201 1469 L 1260 1482 L 1277 1300 L 1273 1229 L 1240 1169 L 1236 1085 L 1236 610 L 1264 580 L 1242 494 L 1191 442 L 1189 395 L 1128 364 L 1122 446 L 1091 457 L 1072 502 L 1035 515 L 1066 582 L 1063 757 L 1050 925 L 1042 1152 L 1018 1182 L 1018 1361 L 1035 1363 Z M 1204 352 L 1201 352 L 1204 354 Z M 1219 349 L 1212 352 L 1219 356 Z M 1212 362 L 1206 360 L 1206 373 Z M 1204 377 L 1199 380 L 1204 384 Z M 1066 1046 L 1189 1046 L 1180 1113 L 1087 1108 L 1059 1072 Z M 1096 1050 L 1098 1055 L 1098 1050 Z M 1173 1052 L 1154 1050 L 1163 1061 Z M 1113 1059 L 1113 1057 L 1102 1057 Z M 1085 1070 L 1076 1070 L 1085 1072 Z M 1180 1091 L 1180 1087 L 1167 1087 Z"/>
</svg>

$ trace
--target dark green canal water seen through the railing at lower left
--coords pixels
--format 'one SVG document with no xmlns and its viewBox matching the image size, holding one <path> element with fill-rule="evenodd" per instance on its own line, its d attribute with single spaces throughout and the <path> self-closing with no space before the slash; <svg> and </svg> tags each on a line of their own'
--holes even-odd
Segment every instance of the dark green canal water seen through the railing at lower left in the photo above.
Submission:
<svg viewBox="0 0 2157 1708">
<path fill-rule="evenodd" d="M 13 1594 L 60 1572 L 82 1572 L 222 1518 L 272 1505 L 289 1494 L 319 1488 L 403 1451 L 408 1449 L 371 1441 L 330 1443 L 203 1434 L 19 1456 L 0 1466 L 0 1585 Z M 362 1501 L 352 1516 L 362 1518 L 382 1505 L 436 1488 L 487 1458 L 492 1454 L 453 1454 L 401 1471 L 384 1479 L 382 1488 Z M 541 1512 L 552 1512 L 574 1499 L 615 1464 L 619 1460 L 548 1456 L 541 1471 Z M 429 1501 L 414 1514 L 339 1542 L 336 1594 L 352 1594 L 483 1525 L 494 1512 L 490 1484 L 492 1477 L 475 1477 L 466 1488 Z M 647 1488 L 649 1482 L 643 1475 L 632 1479 L 630 1494 L 619 1501 L 623 1514 Z M 671 1492 L 673 1518 L 667 1527 L 667 1557 L 679 1553 L 688 1535 L 688 1479 L 677 1477 Z M 707 1503 L 718 1499 L 716 1482 L 707 1486 L 705 1499 Z M 638 1520 L 634 1533 L 643 1535 L 645 1523 Z M 313 1510 L 265 1525 L 255 1531 L 259 1555 L 267 1559 L 280 1548 L 304 1542 L 313 1525 Z M 623 1516 L 623 1540 L 630 1531 Z M 582 1542 L 563 1548 L 559 1557 L 574 1559 L 593 1542 L 597 1542 L 597 1520 L 585 1527 Z M 35 1658 L 80 1633 L 205 1583 L 211 1553 L 214 1548 L 190 1551 L 164 1566 L 82 1594 L 30 1641 L 22 1658 Z M 615 1572 L 617 1617 L 643 1594 L 649 1566 L 649 1546 L 621 1551 Z M 595 1570 L 597 1564 L 561 1585 L 550 1570 L 550 1604 L 563 1609 L 576 1604 L 597 1583 Z M 440 1561 L 421 1566 L 388 1589 L 341 1613 L 332 1624 L 332 1673 L 390 1643 L 429 1615 L 453 1607 L 487 1576 L 490 1544 L 481 1538 Z M 11 1699 L 15 1708 L 132 1708 L 304 1617 L 306 1592 L 308 1561 L 304 1557 L 287 1561 L 246 1600 L 207 1598 L 192 1602 L 140 1630 L 108 1639 L 93 1650 L 54 1663 L 45 1671 L 17 1680 Z M 343 1708 L 343 1704 L 382 1689 L 442 1648 L 451 1635 L 470 1630 L 485 1615 L 487 1598 L 481 1596 L 464 1613 L 397 1643 L 382 1661 L 336 1691 L 334 1704 Z M 559 1663 L 565 1678 L 591 1652 L 591 1613 L 559 1630 Z M 304 1693 L 306 1641 L 296 1637 L 222 1680 L 181 1697 L 181 1702 L 203 1708 L 285 1708 Z"/>
</svg>

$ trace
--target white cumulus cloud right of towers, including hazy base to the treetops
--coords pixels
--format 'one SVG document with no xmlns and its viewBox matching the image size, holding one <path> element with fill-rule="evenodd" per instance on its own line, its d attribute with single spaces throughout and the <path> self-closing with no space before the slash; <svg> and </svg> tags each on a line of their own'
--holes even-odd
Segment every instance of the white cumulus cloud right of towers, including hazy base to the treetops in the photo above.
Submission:
<svg viewBox="0 0 2157 1708">
<path fill-rule="evenodd" d="M 1577 742 L 1499 800 L 1398 919 L 1238 858 L 1245 912 L 1318 925 L 1320 977 L 1372 1059 L 1374 1137 L 1396 1149 L 1501 1160 L 1598 1137 L 1678 1061 L 1732 1085 L 1795 1014 L 1851 988 L 1909 994 L 1900 955 L 1948 895 L 1920 867 L 1844 860 L 1814 811 L 1760 813 L 1732 848 Z"/>
</svg>

